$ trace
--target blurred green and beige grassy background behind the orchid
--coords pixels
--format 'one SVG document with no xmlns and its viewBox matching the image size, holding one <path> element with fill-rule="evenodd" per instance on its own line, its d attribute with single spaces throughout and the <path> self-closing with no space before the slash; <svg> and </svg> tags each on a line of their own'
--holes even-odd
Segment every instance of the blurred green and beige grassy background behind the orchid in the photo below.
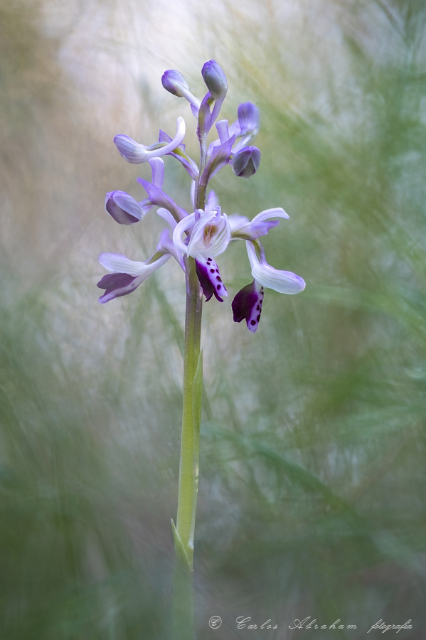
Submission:
<svg viewBox="0 0 426 640">
<path fill-rule="evenodd" d="M 2 640 L 171 637 L 184 283 L 169 262 L 100 305 L 97 255 L 154 251 L 158 216 L 103 208 L 149 176 L 112 138 L 183 114 L 196 156 L 160 79 L 203 95 L 211 58 L 222 117 L 262 114 L 260 170 L 223 170 L 220 203 L 283 206 L 267 259 L 307 289 L 234 324 L 235 243 L 204 307 L 197 638 L 425 638 L 425 23 L 422 0 L 1 0 Z M 188 186 L 167 158 L 183 207 Z M 308 616 L 357 629 L 289 629 Z"/>
</svg>

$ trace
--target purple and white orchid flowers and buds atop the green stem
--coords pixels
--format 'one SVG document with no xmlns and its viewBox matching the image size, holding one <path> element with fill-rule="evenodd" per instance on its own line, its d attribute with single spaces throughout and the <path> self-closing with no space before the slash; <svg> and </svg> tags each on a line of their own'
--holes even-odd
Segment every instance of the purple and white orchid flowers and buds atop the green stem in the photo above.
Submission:
<svg viewBox="0 0 426 640">
<path fill-rule="evenodd" d="M 208 182 L 227 164 L 236 176 L 249 178 L 260 164 L 260 151 L 248 146 L 260 124 L 259 110 L 251 102 L 238 107 L 238 118 L 229 125 L 228 120 L 217 120 L 228 90 L 228 83 L 215 60 L 207 62 L 202 69 L 203 80 L 208 89 L 203 100 L 198 100 L 189 90 L 181 73 L 168 70 L 161 81 L 164 88 L 178 97 L 184 97 L 191 105 L 197 119 L 197 136 L 201 148 L 201 161 L 196 162 L 186 154 L 183 144 L 186 125 L 182 117 L 177 120 L 176 135 L 172 139 L 163 131 L 159 142 L 145 146 L 125 135 L 117 135 L 115 145 L 122 157 L 132 164 L 149 162 L 151 181 L 137 178 L 147 192 L 147 198 L 137 202 L 124 191 L 111 191 L 105 199 L 105 209 L 117 223 L 132 225 L 140 222 L 152 207 L 166 222 L 160 235 L 156 252 L 145 262 L 134 262 L 124 255 L 102 253 L 100 263 L 109 274 L 102 277 L 97 286 L 105 289 L 100 302 L 124 296 L 139 287 L 144 279 L 174 257 L 182 270 L 186 270 L 186 259 L 192 257 L 196 263 L 196 274 L 206 300 L 213 295 L 219 302 L 228 296 L 220 277 L 215 257 L 223 253 L 232 240 L 245 240 L 253 282 L 236 294 L 232 309 L 235 322 L 245 320 L 250 331 L 255 332 L 260 320 L 264 289 L 270 288 L 286 294 L 302 292 L 305 283 L 298 275 L 279 271 L 267 264 L 260 236 L 279 224 L 277 218 L 289 216 L 282 208 L 262 211 L 251 221 L 242 215 L 226 215 L 222 212 L 214 191 L 206 195 Z M 217 121 L 217 122 L 216 122 Z M 207 136 L 215 124 L 218 139 L 207 146 Z M 164 191 L 164 162 L 162 156 L 173 156 L 191 176 L 193 211 L 188 213 L 177 205 Z M 202 208 L 200 208 L 202 206 Z"/>
</svg>

